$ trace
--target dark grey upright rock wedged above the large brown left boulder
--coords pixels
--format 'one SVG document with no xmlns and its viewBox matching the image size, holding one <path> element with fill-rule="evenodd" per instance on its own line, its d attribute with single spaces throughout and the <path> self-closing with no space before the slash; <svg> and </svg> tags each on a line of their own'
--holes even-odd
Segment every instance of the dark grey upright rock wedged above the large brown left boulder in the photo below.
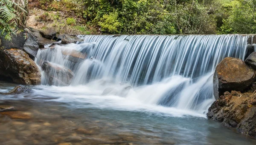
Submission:
<svg viewBox="0 0 256 145">
<path fill-rule="evenodd" d="M 35 60 L 36 54 L 38 52 L 39 49 L 39 42 L 37 37 L 35 37 L 35 35 L 33 34 L 28 34 L 27 33 L 27 40 L 23 46 L 23 50 L 29 54 L 29 57 L 32 60 Z"/>
</svg>

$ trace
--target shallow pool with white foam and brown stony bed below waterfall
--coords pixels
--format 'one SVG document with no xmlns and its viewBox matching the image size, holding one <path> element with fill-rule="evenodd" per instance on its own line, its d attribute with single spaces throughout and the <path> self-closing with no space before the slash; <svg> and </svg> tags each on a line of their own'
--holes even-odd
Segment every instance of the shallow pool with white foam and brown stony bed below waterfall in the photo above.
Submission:
<svg viewBox="0 0 256 145">
<path fill-rule="evenodd" d="M 0 82 L 0 91 L 14 86 Z M 208 120 L 205 114 L 102 95 L 103 89 L 92 84 L 40 85 L 29 94 L 0 96 L 0 105 L 15 106 L 28 116 L 0 115 L 1 145 L 256 144 L 250 136 Z"/>
</svg>

